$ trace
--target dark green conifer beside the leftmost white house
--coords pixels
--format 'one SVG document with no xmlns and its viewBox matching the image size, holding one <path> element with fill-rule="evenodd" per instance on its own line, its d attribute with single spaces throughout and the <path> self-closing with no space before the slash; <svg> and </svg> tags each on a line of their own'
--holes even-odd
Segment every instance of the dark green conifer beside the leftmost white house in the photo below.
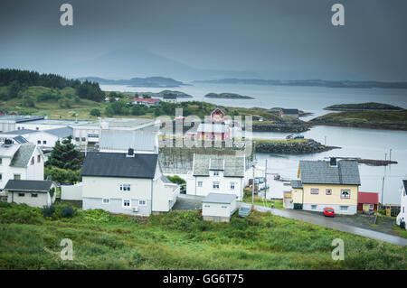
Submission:
<svg viewBox="0 0 407 288">
<path fill-rule="evenodd" d="M 45 165 L 47 167 L 58 167 L 65 170 L 80 170 L 83 164 L 83 154 L 76 149 L 75 144 L 71 143 L 72 137 L 55 143 L 52 148 L 50 158 Z"/>
</svg>

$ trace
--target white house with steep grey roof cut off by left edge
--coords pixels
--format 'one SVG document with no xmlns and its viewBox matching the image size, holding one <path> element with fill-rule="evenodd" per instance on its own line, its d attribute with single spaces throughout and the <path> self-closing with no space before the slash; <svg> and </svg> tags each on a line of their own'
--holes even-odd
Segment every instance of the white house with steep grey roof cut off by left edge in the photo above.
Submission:
<svg viewBox="0 0 407 288">
<path fill-rule="evenodd" d="M 43 152 L 31 143 L 0 144 L 0 191 L 9 180 L 43 180 Z M 4 193 L 3 193 L 4 196 Z"/>
</svg>

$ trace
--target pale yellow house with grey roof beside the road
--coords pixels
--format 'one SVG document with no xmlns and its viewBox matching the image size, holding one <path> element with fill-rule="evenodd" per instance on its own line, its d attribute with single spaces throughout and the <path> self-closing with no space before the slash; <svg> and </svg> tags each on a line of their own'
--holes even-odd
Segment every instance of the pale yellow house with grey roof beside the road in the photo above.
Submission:
<svg viewBox="0 0 407 288">
<path fill-rule="evenodd" d="M 355 161 L 300 161 L 298 178 L 291 181 L 294 208 L 323 211 L 330 207 L 336 214 L 356 214 L 360 176 Z"/>
</svg>

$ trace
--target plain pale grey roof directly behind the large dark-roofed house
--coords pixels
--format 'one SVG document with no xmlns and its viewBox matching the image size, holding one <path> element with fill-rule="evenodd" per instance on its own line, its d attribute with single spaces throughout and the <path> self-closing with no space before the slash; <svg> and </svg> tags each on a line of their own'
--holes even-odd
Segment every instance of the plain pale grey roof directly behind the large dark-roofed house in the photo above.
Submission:
<svg viewBox="0 0 407 288">
<path fill-rule="evenodd" d="M 156 134 L 137 131 L 103 130 L 100 135 L 99 149 L 136 151 L 156 151 Z"/>
</svg>

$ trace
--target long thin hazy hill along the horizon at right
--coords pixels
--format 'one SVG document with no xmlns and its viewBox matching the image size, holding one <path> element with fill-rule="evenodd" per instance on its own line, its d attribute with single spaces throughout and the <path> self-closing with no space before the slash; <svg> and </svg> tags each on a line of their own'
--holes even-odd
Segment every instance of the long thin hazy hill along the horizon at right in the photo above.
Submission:
<svg viewBox="0 0 407 288">
<path fill-rule="evenodd" d="M 215 79 L 195 80 L 193 83 L 208 84 L 251 84 L 271 86 L 310 86 L 327 88 L 407 88 L 407 82 L 379 82 L 379 81 L 331 81 L 320 79 L 309 80 L 266 80 L 266 79 Z"/>
</svg>

